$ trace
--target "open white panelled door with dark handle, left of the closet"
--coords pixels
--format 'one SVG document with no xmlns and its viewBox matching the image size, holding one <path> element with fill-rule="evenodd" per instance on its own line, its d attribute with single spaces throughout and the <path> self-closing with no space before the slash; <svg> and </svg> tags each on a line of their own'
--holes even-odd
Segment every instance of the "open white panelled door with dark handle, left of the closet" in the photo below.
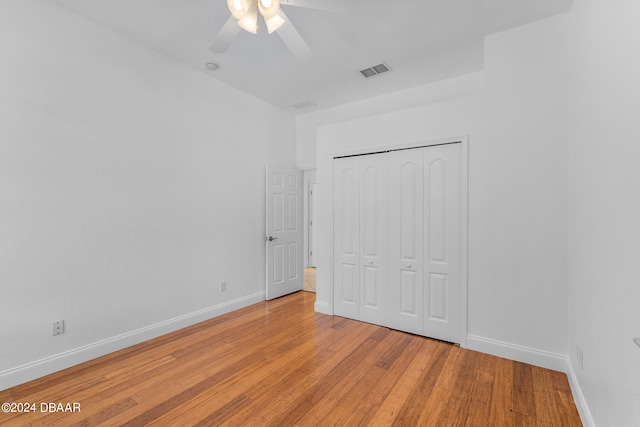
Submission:
<svg viewBox="0 0 640 427">
<path fill-rule="evenodd" d="M 302 172 L 267 166 L 267 299 L 302 290 Z"/>
</svg>

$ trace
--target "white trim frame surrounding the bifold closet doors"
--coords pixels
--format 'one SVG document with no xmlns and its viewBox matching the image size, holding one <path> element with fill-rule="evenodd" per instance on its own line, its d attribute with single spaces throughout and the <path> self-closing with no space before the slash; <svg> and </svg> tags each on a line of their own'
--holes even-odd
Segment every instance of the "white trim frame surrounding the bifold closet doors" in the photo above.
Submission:
<svg viewBox="0 0 640 427">
<path fill-rule="evenodd" d="M 367 154 L 375 154 L 375 153 L 383 153 L 387 151 L 396 151 L 396 150 L 405 150 L 412 148 L 421 148 L 421 147 L 431 147 L 434 145 L 444 145 L 444 144 L 453 144 L 460 143 L 460 182 L 461 182 L 461 195 L 460 195 L 460 210 L 461 210 L 461 219 L 460 219 L 460 346 L 462 348 L 467 348 L 467 334 L 468 334 L 468 263 L 469 263 L 469 136 L 453 136 L 448 138 L 440 138 L 440 139 L 423 139 L 405 143 L 388 143 L 384 145 L 377 145 L 371 147 L 363 147 L 358 149 L 351 149 L 345 151 L 334 151 L 331 154 L 333 159 L 337 157 L 346 157 L 346 156 L 362 156 Z M 333 165 L 331 170 L 331 181 L 327 182 L 327 185 L 330 191 L 333 192 Z M 331 196 L 331 211 L 333 212 L 333 193 Z M 334 241 L 333 241 L 333 232 L 334 232 L 334 223 L 333 223 L 333 215 L 331 218 L 327 218 L 327 220 L 331 221 L 331 242 L 330 242 L 330 259 L 331 263 L 329 264 L 330 271 L 328 272 L 327 277 L 330 278 L 331 286 L 330 293 L 328 297 L 328 301 L 330 301 L 330 307 L 316 306 L 317 311 L 321 311 L 327 314 L 334 313 L 333 307 L 333 298 L 335 294 L 335 283 L 333 281 L 333 259 L 334 259 Z M 320 309 L 320 310 L 318 310 Z"/>
</svg>

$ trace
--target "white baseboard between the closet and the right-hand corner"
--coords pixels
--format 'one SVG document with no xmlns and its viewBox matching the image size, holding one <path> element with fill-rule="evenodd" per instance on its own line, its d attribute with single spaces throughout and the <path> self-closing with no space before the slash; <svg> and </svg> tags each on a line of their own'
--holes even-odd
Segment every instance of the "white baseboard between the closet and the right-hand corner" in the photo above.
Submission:
<svg viewBox="0 0 640 427">
<path fill-rule="evenodd" d="M 567 369 L 568 360 L 565 355 L 477 335 L 467 336 L 467 348 L 554 371 L 565 372 Z"/>
</svg>

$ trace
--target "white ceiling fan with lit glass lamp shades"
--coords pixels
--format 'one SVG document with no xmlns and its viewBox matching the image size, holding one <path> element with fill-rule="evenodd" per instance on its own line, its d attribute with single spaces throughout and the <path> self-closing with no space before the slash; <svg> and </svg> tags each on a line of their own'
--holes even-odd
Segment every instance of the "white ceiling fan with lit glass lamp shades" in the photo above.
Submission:
<svg viewBox="0 0 640 427">
<path fill-rule="evenodd" d="M 296 59 L 304 61 L 311 58 L 311 49 L 280 5 L 337 11 L 340 0 L 227 0 L 231 16 L 209 50 L 214 53 L 226 52 L 241 30 L 256 34 L 259 12 L 269 34 L 276 32 Z"/>
</svg>

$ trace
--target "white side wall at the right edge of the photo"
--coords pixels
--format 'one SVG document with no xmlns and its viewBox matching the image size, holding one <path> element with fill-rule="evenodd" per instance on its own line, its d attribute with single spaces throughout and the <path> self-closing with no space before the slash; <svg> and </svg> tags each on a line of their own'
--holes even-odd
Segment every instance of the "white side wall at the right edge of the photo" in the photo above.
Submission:
<svg viewBox="0 0 640 427">
<path fill-rule="evenodd" d="M 632 0 L 572 13 L 569 355 L 598 426 L 640 425 L 639 16 Z"/>
</svg>

